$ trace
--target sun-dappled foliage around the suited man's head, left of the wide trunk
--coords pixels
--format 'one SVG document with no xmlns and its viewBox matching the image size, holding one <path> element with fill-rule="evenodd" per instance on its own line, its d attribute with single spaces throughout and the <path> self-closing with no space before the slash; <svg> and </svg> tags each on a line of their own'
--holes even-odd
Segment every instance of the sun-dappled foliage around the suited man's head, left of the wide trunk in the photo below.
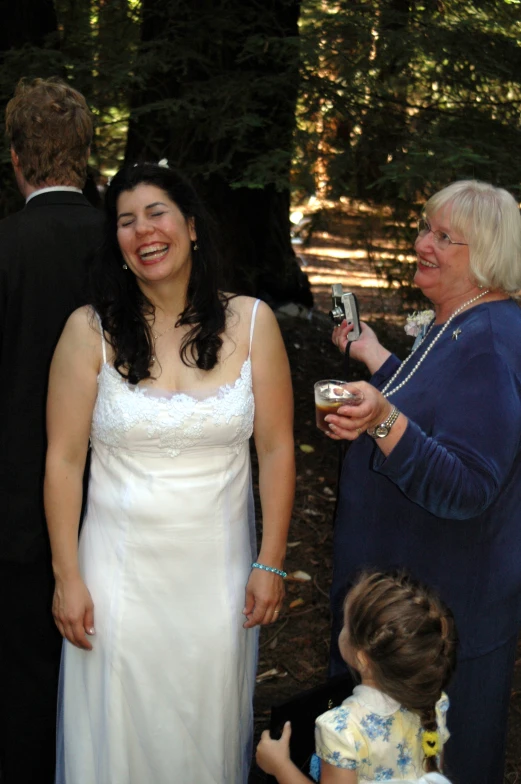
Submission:
<svg viewBox="0 0 521 784">
<path fill-rule="evenodd" d="M 37 3 L 37 0 L 35 0 Z M 36 5 L 35 5 L 36 8 Z M 5 107 L 22 77 L 60 76 L 80 90 L 95 117 L 91 162 L 95 169 L 111 170 L 120 164 L 129 113 L 129 70 L 140 32 L 135 0 L 55 0 L 56 28 L 41 30 L 33 43 L 0 52 L 0 106 Z M 10 19 L 4 20 L 8 26 Z M 6 36 L 9 38 L 9 35 Z M 9 150 L 0 142 L 0 166 L 5 190 L 0 201 L 4 214 L 20 199 L 9 174 Z"/>
</svg>

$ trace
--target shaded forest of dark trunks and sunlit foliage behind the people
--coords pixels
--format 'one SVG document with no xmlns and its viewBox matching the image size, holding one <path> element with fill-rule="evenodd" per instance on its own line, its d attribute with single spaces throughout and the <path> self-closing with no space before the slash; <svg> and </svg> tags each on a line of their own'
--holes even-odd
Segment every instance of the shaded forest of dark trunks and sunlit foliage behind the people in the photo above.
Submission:
<svg viewBox="0 0 521 784">
<path fill-rule="evenodd" d="M 467 177 L 521 195 L 520 0 L 0 0 L 0 11 L 2 107 L 22 76 L 68 79 L 95 115 L 94 180 L 162 158 L 195 178 L 231 286 L 272 304 L 311 305 L 291 205 L 304 241 L 355 210 L 368 263 L 410 300 L 407 251 L 429 195 Z M 21 206 L 5 143 L 0 182 L 3 216 Z"/>
</svg>

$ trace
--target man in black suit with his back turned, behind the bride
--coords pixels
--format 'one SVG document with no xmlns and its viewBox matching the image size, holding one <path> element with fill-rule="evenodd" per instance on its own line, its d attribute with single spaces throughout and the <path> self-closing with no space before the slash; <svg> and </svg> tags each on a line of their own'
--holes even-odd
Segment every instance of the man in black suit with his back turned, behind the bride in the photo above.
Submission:
<svg viewBox="0 0 521 784">
<path fill-rule="evenodd" d="M 26 205 L 0 222 L 0 769 L 2 784 L 52 784 L 61 637 L 42 494 L 47 375 L 84 304 L 103 216 L 81 193 L 92 118 L 80 93 L 22 80 L 6 132 Z"/>
</svg>

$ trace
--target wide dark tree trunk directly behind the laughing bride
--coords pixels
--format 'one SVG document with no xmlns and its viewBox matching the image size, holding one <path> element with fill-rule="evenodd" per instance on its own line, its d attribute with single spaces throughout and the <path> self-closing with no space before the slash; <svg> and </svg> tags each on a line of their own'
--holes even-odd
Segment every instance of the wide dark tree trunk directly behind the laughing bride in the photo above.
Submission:
<svg viewBox="0 0 521 784">
<path fill-rule="evenodd" d="M 311 304 L 290 241 L 300 0 L 143 0 L 127 160 L 197 179 L 235 290 Z"/>
</svg>

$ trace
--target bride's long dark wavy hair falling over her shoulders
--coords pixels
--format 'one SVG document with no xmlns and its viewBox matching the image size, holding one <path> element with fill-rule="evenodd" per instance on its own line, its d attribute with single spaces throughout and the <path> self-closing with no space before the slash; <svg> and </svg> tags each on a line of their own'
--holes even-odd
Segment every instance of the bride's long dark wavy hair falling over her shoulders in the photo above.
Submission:
<svg viewBox="0 0 521 784">
<path fill-rule="evenodd" d="M 131 384 L 151 376 L 154 343 L 150 316 L 153 323 L 155 308 L 132 272 L 123 269 L 117 239 L 117 203 L 122 193 L 143 184 L 164 191 L 185 219 L 193 220 L 197 234 L 198 249 L 192 251 L 186 307 L 176 323 L 191 326 L 181 345 L 185 365 L 196 365 L 201 370 L 215 366 L 228 306 L 228 297 L 220 290 L 222 266 L 209 218 L 191 183 L 178 172 L 153 163 L 120 169 L 105 196 L 105 235 L 91 268 L 90 301 L 114 350 L 114 367 Z"/>
</svg>

